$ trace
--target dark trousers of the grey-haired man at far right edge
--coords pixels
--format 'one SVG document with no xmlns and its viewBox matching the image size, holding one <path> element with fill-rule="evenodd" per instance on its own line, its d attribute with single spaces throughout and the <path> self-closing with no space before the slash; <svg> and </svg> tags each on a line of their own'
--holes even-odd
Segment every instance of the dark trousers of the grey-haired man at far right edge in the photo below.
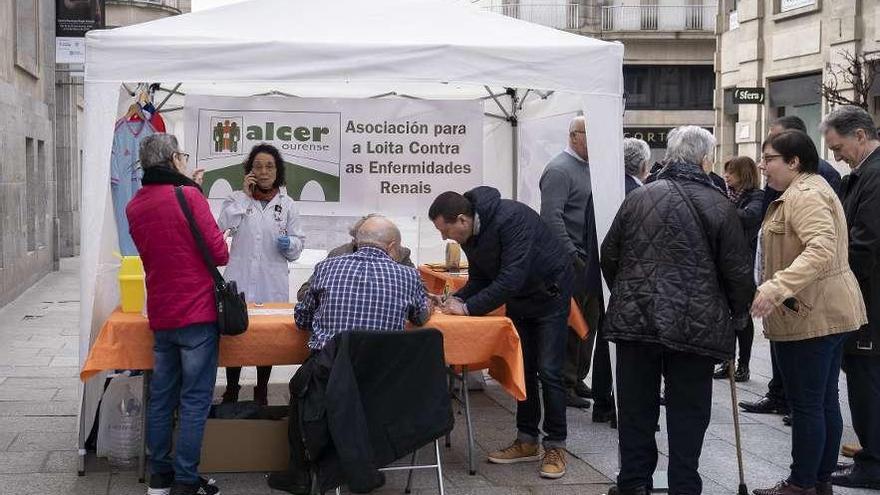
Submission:
<svg viewBox="0 0 880 495">
<path fill-rule="evenodd" d="M 880 357 L 847 355 L 843 366 L 853 429 L 862 446 L 856 468 L 880 479 Z"/>
</svg>

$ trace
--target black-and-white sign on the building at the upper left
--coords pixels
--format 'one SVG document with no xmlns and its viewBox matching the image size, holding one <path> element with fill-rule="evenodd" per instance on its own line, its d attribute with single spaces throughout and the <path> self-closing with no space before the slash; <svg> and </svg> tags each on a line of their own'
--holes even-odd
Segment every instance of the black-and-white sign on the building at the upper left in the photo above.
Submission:
<svg viewBox="0 0 880 495">
<path fill-rule="evenodd" d="M 104 0 L 55 0 L 55 62 L 85 63 L 85 36 L 104 28 Z"/>
</svg>

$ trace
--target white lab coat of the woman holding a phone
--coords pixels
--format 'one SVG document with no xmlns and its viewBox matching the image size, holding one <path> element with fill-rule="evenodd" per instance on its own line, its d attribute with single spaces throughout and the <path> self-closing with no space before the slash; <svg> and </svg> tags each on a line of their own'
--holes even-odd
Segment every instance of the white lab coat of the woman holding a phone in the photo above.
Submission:
<svg viewBox="0 0 880 495">
<path fill-rule="evenodd" d="M 248 302 L 289 302 L 289 261 L 303 249 L 302 225 L 290 196 L 279 192 L 266 205 L 235 191 L 223 202 L 220 230 L 229 230 L 232 249 L 224 276 L 235 280 Z M 278 249 L 278 236 L 290 237 L 290 248 Z"/>
</svg>

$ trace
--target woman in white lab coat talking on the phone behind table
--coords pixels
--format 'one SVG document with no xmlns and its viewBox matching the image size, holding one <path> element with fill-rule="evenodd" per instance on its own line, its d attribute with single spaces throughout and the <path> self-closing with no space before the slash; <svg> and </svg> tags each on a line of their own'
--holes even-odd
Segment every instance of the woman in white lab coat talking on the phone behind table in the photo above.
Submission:
<svg viewBox="0 0 880 495">
<path fill-rule="evenodd" d="M 235 280 L 249 303 L 289 302 L 287 263 L 299 258 L 305 236 L 296 206 L 281 192 L 284 160 L 269 144 L 254 146 L 244 163 L 244 183 L 223 202 L 220 230 L 232 237 L 224 276 Z M 271 366 L 257 367 L 254 400 L 268 402 Z M 226 368 L 223 402 L 237 402 L 241 368 Z"/>
</svg>

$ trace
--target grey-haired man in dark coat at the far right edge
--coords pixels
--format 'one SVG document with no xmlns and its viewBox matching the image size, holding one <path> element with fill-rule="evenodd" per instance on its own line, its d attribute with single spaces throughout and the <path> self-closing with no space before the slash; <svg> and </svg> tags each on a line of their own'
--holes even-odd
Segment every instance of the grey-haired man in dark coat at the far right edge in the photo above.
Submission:
<svg viewBox="0 0 880 495">
<path fill-rule="evenodd" d="M 868 324 L 850 334 L 843 371 L 853 429 L 862 450 L 851 467 L 831 476 L 838 486 L 880 489 L 880 141 L 868 112 L 847 105 L 822 121 L 834 159 L 852 172 L 840 198 L 849 228 L 849 266 L 859 282 Z"/>
</svg>

